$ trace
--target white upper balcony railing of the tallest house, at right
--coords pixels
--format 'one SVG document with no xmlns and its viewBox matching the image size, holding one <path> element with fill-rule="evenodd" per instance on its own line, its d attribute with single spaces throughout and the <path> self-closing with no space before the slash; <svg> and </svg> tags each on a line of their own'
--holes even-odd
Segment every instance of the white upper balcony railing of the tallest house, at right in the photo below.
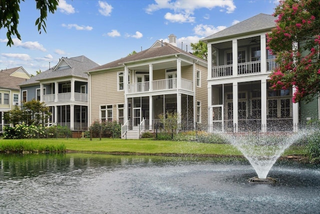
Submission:
<svg viewBox="0 0 320 214">
<path fill-rule="evenodd" d="M 275 59 L 266 60 L 266 71 L 271 72 L 276 68 Z M 237 75 L 261 73 L 261 61 L 252 61 L 237 64 Z M 233 76 L 232 64 L 214 66 L 211 69 L 211 78 Z"/>
</svg>

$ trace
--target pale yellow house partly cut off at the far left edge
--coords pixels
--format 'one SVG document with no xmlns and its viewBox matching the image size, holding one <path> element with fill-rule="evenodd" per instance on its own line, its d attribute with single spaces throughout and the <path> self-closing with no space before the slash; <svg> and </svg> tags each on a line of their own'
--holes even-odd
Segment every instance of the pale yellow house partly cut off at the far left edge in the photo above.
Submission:
<svg viewBox="0 0 320 214">
<path fill-rule="evenodd" d="M 27 79 L 30 79 L 30 75 L 22 67 L 0 71 L 0 132 L 2 132 L 4 125 L 9 125 L 3 119 L 5 112 L 20 105 L 18 84 Z"/>
</svg>

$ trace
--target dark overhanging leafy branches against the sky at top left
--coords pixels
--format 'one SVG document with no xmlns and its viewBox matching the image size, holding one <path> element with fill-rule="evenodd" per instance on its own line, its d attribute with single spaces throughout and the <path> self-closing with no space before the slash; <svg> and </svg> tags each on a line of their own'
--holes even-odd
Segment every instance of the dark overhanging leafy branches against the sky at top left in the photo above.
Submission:
<svg viewBox="0 0 320 214">
<path fill-rule="evenodd" d="M 22 0 L 24 2 L 24 0 Z M 36 9 L 40 11 L 40 17 L 36 19 L 35 25 L 38 27 L 38 32 L 41 34 L 41 29 L 46 33 L 46 17 L 47 11 L 54 14 L 56 8 L 59 4 L 59 0 L 35 0 Z M 19 11 L 20 11 L 20 0 L 2 0 L 0 1 L 0 29 L 6 28 L 6 37 L 8 42 L 7 46 L 13 45 L 11 36 L 16 35 L 16 37 L 21 40 L 21 36 L 18 32 L 19 24 Z"/>
</svg>

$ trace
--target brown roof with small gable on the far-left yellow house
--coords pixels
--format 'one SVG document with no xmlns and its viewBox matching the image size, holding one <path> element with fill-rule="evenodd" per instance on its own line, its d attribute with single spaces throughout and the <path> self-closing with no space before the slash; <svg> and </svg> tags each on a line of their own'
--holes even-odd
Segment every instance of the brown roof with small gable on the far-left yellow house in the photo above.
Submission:
<svg viewBox="0 0 320 214">
<path fill-rule="evenodd" d="M 10 69 L 5 69 L 0 71 L 0 88 L 6 88 L 6 89 L 16 89 L 19 90 L 19 84 L 22 81 L 25 81 L 27 79 L 21 78 L 21 77 L 16 77 L 12 76 L 14 72 L 22 69 L 27 76 L 30 76 L 22 67 L 16 67 L 16 68 L 10 68 Z"/>
</svg>

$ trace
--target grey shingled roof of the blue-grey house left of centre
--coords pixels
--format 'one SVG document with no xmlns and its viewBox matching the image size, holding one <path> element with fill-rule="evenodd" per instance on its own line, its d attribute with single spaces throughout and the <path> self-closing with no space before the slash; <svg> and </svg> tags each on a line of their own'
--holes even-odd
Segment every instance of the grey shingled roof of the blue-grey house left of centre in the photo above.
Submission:
<svg viewBox="0 0 320 214">
<path fill-rule="evenodd" d="M 68 65 L 68 66 L 65 66 Z M 97 63 L 86 58 L 85 56 L 60 59 L 58 64 L 31 79 L 21 83 L 20 85 L 38 84 L 40 80 L 54 79 L 60 77 L 74 76 L 87 78 L 85 71 L 99 66 Z"/>
</svg>

